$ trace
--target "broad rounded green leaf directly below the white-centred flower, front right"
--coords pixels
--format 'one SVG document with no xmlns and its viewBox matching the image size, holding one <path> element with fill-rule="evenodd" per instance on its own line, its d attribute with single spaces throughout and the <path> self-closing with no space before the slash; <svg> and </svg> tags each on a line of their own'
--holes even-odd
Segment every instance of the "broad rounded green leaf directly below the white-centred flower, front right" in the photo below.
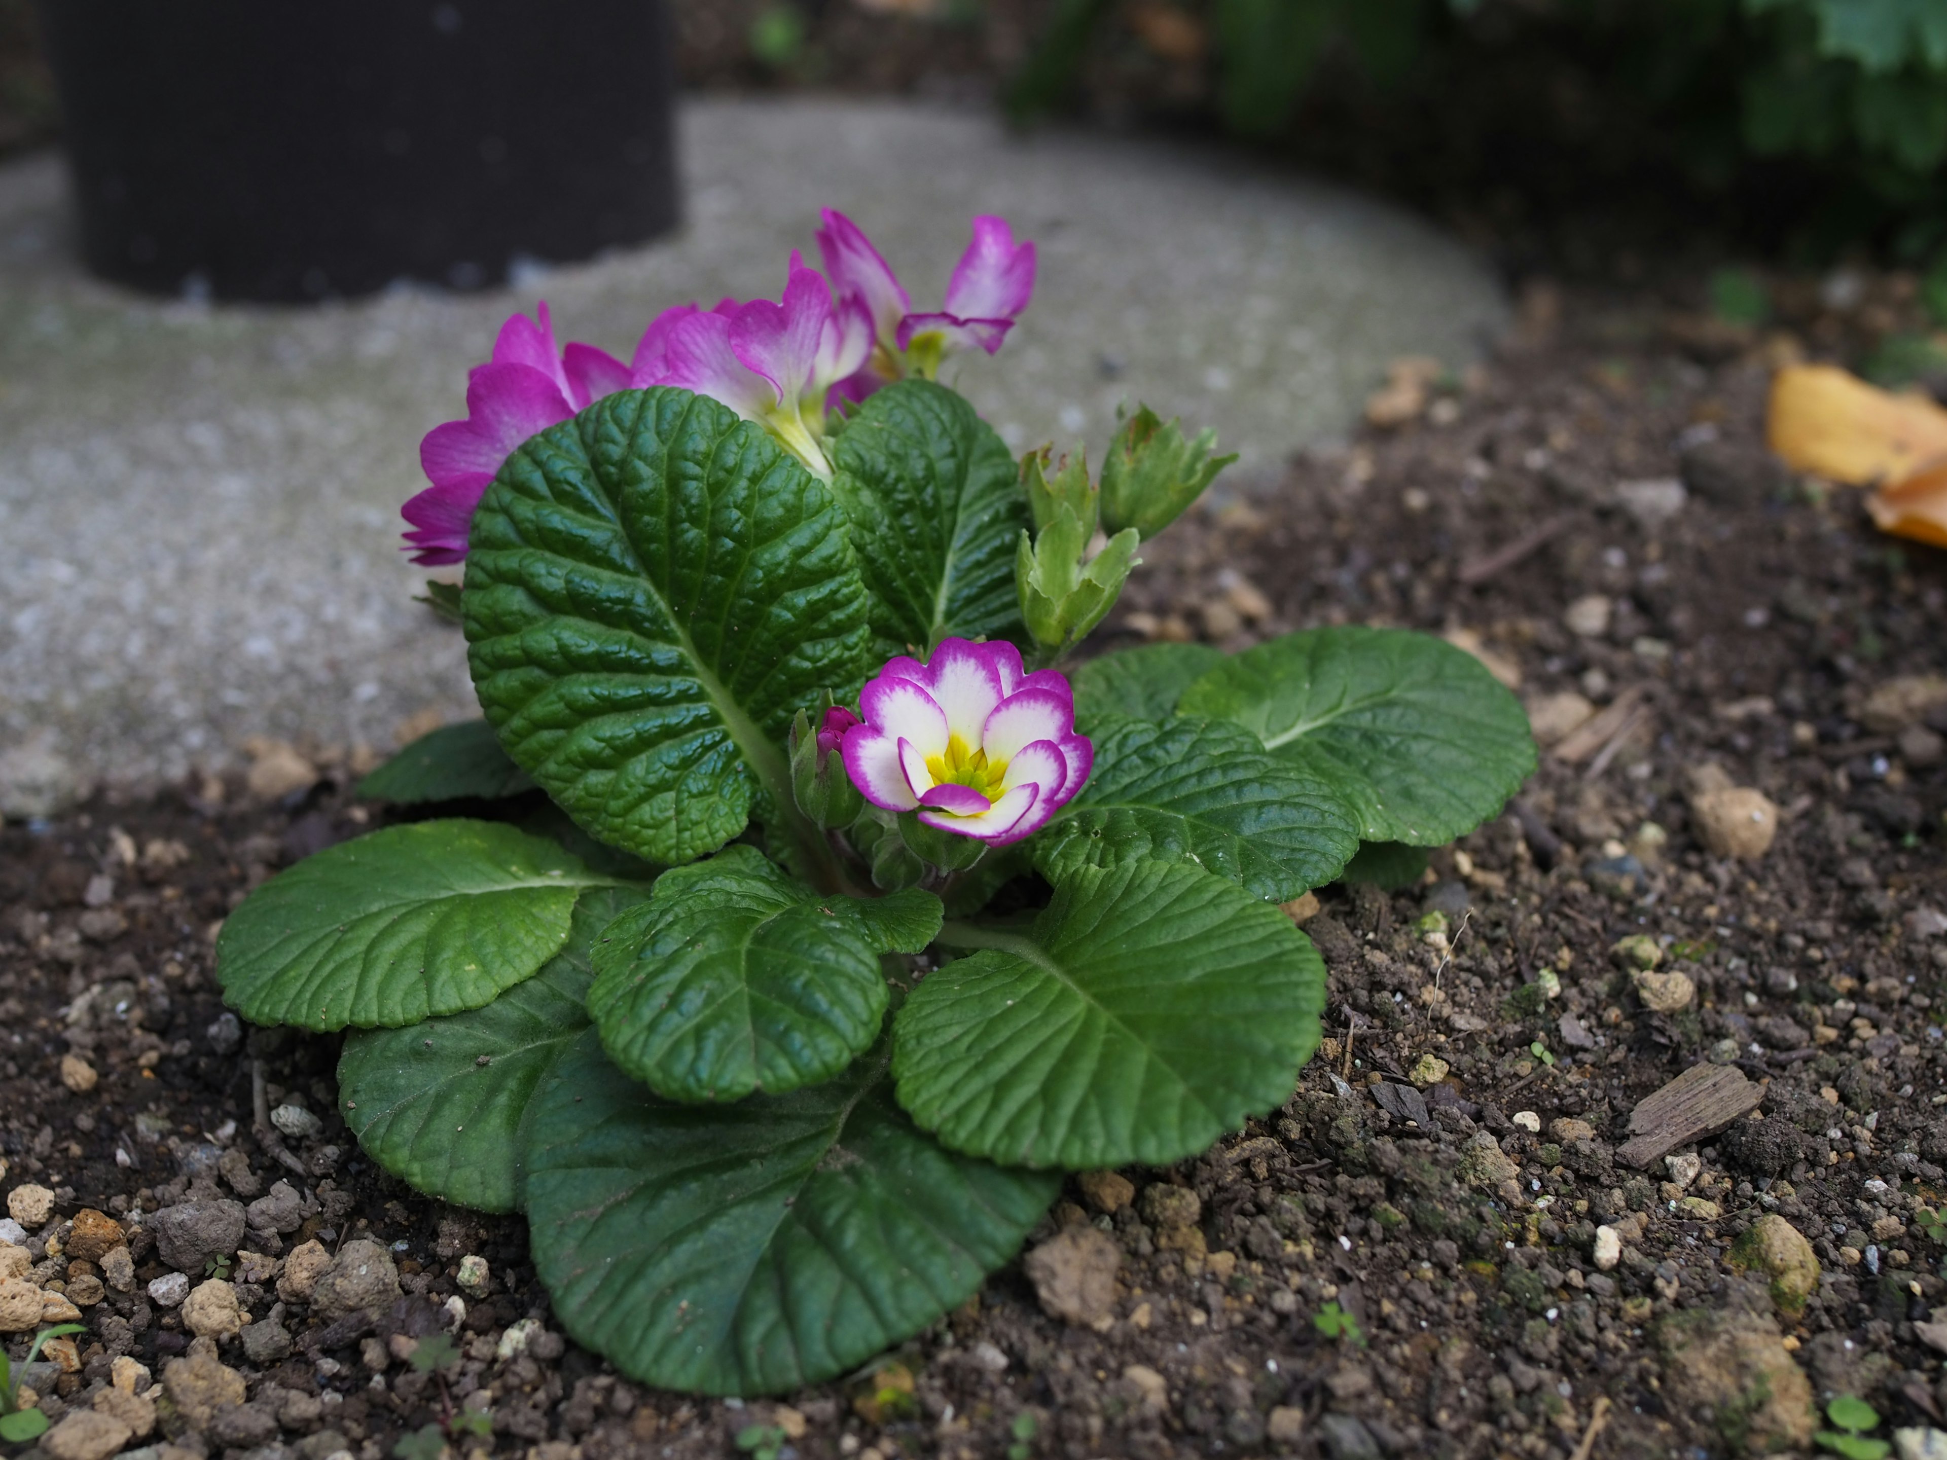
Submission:
<svg viewBox="0 0 1947 1460">
<path fill-rule="evenodd" d="M 1083 866 L 1030 931 L 979 948 L 894 1020 L 900 1104 L 974 1156 L 1090 1170 L 1194 1156 L 1285 1102 L 1318 1045 L 1324 964 L 1291 919 L 1194 866 Z"/>
</svg>

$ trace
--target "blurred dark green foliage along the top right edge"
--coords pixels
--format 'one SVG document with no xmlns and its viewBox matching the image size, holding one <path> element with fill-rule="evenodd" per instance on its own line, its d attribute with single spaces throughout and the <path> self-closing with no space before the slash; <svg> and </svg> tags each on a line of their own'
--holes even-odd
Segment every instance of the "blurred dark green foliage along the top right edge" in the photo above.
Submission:
<svg viewBox="0 0 1947 1460">
<path fill-rule="evenodd" d="M 1199 99 L 1234 136 L 1289 138 L 1322 78 L 1347 74 L 1363 119 L 1441 119 L 1456 78 L 1521 49 L 1560 58 L 1530 74 L 1542 142 L 1669 146 L 1706 191 L 1795 164 L 1822 179 L 1807 206 L 1844 197 L 1846 216 L 1818 224 L 1828 241 L 1881 232 L 1908 257 L 1947 243 L 1947 0 L 1055 0 L 1010 88 L 1016 119 L 1059 105 L 1114 45 L 1110 21 L 1157 4 L 1201 27 Z M 1550 90 L 1579 91 L 1612 134 L 1569 134 Z"/>
</svg>

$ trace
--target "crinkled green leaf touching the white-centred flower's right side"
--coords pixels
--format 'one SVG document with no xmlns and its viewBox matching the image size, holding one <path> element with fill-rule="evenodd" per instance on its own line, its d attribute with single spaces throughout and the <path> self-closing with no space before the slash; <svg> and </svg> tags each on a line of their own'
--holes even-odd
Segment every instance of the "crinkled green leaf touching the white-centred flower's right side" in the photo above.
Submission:
<svg viewBox="0 0 1947 1460">
<path fill-rule="evenodd" d="M 1192 862 L 1281 903 L 1322 888 L 1359 849 L 1345 802 L 1242 726 L 1102 716 L 1092 728 L 1094 775 L 1028 843 L 1049 880 L 1075 866 Z"/>
</svg>

